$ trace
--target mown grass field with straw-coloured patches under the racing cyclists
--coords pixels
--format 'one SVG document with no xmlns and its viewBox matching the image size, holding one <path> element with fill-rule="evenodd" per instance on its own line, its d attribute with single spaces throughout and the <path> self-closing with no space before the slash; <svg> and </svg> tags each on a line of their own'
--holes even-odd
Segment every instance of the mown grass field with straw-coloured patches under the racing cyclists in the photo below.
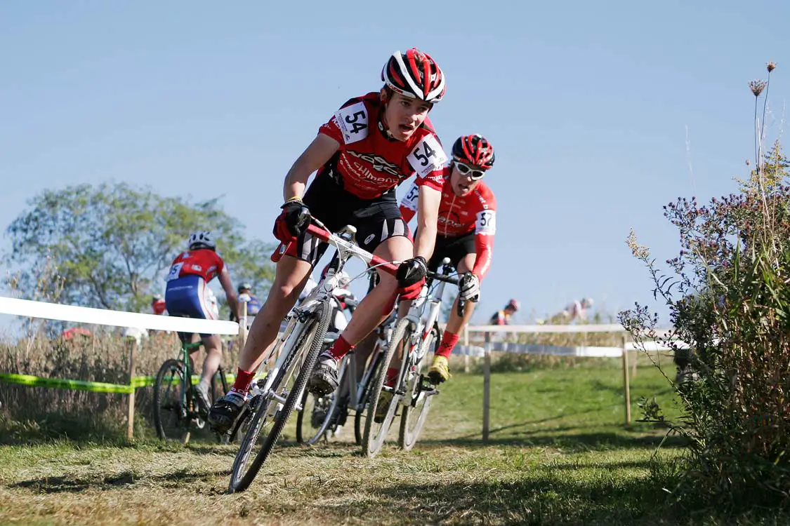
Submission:
<svg viewBox="0 0 790 526">
<path fill-rule="evenodd" d="M 390 443 L 369 460 L 352 442 L 297 446 L 291 430 L 242 494 L 225 494 L 234 446 L 0 446 L 0 523 L 689 522 L 664 504 L 661 481 L 651 476 L 653 463 L 682 451 L 669 442 L 654 457 L 663 431 L 640 423 L 626 430 L 616 364 L 501 373 L 491 385 L 488 442 L 480 439 L 483 377 L 456 374 L 412 452 Z M 640 367 L 632 399 L 654 394 L 672 407 L 664 379 Z"/>
</svg>

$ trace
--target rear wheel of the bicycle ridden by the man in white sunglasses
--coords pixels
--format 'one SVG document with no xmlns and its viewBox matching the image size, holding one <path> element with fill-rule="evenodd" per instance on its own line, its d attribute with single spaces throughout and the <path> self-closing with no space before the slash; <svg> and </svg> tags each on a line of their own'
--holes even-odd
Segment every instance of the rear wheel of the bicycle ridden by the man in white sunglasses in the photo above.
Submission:
<svg viewBox="0 0 790 526">
<path fill-rule="evenodd" d="M 441 339 L 438 326 L 434 326 L 428 337 L 423 342 L 427 353 L 435 353 L 438 349 L 438 342 Z M 414 371 L 408 372 L 406 382 L 406 396 L 404 397 L 403 413 L 401 414 L 401 431 L 398 433 L 397 443 L 402 450 L 409 451 L 414 447 L 419 438 L 419 433 L 423 431 L 428 410 L 431 408 L 431 401 L 434 399 L 436 390 L 433 386 L 427 391 L 423 384 L 423 368 L 425 367 L 425 356 L 419 360 Z"/>
</svg>

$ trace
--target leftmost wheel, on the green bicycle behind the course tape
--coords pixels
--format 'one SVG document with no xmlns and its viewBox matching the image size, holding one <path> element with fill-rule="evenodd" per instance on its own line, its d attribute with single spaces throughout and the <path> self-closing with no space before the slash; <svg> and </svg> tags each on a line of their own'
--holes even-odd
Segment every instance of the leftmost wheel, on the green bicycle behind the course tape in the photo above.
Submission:
<svg viewBox="0 0 790 526">
<path fill-rule="evenodd" d="M 190 390 L 184 389 L 186 367 L 181 360 L 165 360 L 153 384 L 153 421 L 161 440 L 183 440 L 190 428 Z"/>
</svg>

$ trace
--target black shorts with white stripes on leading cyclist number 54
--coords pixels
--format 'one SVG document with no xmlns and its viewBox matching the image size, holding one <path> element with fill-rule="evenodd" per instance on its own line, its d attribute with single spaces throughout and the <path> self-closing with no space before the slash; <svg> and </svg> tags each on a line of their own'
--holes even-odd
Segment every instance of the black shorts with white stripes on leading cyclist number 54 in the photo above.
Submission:
<svg viewBox="0 0 790 526">
<path fill-rule="evenodd" d="M 382 196 L 366 200 L 346 192 L 329 176 L 319 174 L 310 183 L 302 200 L 310 209 L 310 215 L 324 223 L 331 232 L 337 232 L 346 225 L 355 226 L 356 243 L 367 252 L 373 252 L 390 237 L 409 237 L 408 225 L 401 217 L 394 188 Z M 303 233 L 287 253 L 315 266 L 327 246 Z"/>
</svg>

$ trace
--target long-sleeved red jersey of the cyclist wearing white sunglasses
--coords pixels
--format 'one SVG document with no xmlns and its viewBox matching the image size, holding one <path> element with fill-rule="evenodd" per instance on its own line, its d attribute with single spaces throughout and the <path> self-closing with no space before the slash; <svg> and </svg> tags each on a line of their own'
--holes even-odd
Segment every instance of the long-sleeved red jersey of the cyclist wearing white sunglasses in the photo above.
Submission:
<svg viewBox="0 0 790 526">
<path fill-rule="evenodd" d="M 496 233 L 496 199 L 491 188 L 483 182 L 465 197 L 453 192 L 450 184 L 450 167 L 444 169 L 442 177 L 442 203 L 439 205 L 438 235 L 444 237 L 461 237 L 475 233 L 475 268 L 472 274 L 483 279 L 491 268 L 491 253 L 494 249 Z M 419 188 L 412 185 L 401 201 L 401 215 L 409 222 L 417 211 Z"/>
</svg>

